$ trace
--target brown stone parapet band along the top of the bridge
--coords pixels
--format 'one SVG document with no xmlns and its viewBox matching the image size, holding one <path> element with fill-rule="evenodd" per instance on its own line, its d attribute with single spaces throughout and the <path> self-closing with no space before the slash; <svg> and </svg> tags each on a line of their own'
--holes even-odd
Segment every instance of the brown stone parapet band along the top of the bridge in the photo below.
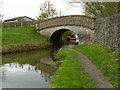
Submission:
<svg viewBox="0 0 120 90">
<path fill-rule="evenodd" d="M 83 15 L 55 17 L 39 23 L 39 30 L 55 26 L 83 26 L 94 29 L 94 18 Z"/>
</svg>

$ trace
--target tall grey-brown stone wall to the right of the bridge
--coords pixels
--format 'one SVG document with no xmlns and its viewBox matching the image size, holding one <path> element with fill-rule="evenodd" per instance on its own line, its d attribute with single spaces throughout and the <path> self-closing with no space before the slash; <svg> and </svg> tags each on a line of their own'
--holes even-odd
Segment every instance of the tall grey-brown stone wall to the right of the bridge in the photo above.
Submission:
<svg viewBox="0 0 120 90">
<path fill-rule="evenodd" d="M 95 20 L 94 42 L 120 51 L 120 14 Z"/>
</svg>

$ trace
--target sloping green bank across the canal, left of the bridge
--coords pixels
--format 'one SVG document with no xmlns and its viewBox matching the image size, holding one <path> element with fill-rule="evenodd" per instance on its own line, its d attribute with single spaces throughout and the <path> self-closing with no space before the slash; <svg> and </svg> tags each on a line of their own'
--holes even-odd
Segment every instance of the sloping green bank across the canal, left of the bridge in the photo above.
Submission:
<svg viewBox="0 0 120 90">
<path fill-rule="evenodd" d="M 34 27 L 2 29 L 2 53 L 14 53 L 50 46 L 47 39 L 38 34 Z"/>
</svg>

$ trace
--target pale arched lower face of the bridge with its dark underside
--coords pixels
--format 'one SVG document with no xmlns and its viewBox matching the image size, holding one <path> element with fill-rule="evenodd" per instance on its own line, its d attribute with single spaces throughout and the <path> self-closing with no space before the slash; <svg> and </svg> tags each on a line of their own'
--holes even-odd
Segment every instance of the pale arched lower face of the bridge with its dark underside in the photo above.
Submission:
<svg viewBox="0 0 120 90">
<path fill-rule="evenodd" d="M 82 26 L 56 26 L 41 30 L 40 33 L 48 37 L 54 45 L 61 46 L 60 39 L 62 34 L 66 31 L 76 33 L 81 43 L 85 42 L 85 40 L 89 40 L 94 33 L 93 30 Z"/>
</svg>

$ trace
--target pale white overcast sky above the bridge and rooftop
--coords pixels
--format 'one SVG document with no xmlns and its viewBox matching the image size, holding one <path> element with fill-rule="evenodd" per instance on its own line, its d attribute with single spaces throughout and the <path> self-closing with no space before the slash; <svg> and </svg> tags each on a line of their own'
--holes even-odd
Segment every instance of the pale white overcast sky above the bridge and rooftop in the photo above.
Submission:
<svg viewBox="0 0 120 90">
<path fill-rule="evenodd" d="M 0 0 L 0 12 L 5 19 L 10 19 L 18 16 L 28 16 L 36 19 L 39 16 L 39 7 L 45 0 Z M 71 0 L 50 0 L 54 8 L 61 11 L 62 15 L 82 15 L 82 6 L 71 7 L 68 2 Z"/>
</svg>

